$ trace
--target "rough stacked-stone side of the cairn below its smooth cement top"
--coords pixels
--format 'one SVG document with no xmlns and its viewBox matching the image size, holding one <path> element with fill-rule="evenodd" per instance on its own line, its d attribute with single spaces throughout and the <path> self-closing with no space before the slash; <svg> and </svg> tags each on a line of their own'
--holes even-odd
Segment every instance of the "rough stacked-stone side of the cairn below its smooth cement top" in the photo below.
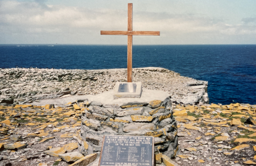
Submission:
<svg viewBox="0 0 256 166">
<path fill-rule="evenodd" d="M 171 99 L 119 105 L 87 103 L 81 117 L 78 149 L 83 155 L 101 151 L 104 135 L 154 136 L 155 154 L 174 157 L 178 150 L 177 124 Z"/>
</svg>

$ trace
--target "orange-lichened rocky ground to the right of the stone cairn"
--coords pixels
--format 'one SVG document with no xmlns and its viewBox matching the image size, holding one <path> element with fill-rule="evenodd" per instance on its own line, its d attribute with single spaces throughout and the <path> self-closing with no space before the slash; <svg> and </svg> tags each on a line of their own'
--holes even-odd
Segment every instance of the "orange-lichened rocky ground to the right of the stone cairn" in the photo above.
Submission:
<svg viewBox="0 0 256 166">
<path fill-rule="evenodd" d="M 256 165 L 256 105 L 173 106 L 180 165 Z"/>
</svg>

